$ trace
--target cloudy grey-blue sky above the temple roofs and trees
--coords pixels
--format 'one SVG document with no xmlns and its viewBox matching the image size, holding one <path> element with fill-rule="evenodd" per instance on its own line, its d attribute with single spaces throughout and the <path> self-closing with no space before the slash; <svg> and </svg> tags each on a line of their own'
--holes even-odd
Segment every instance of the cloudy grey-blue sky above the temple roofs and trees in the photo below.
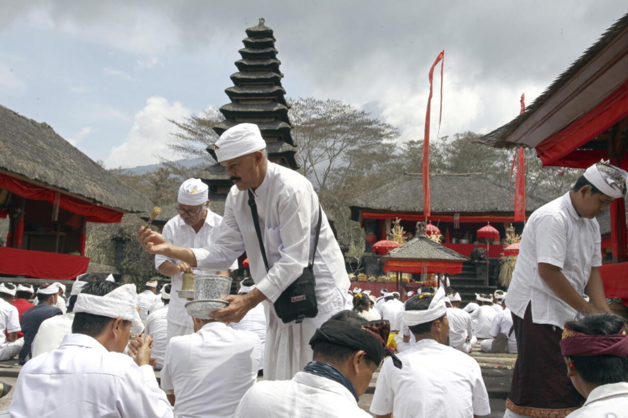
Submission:
<svg viewBox="0 0 628 418">
<path fill-rule="evenodd" d="M 0 104 L 107 167 L 178 159 L 166 118 L 228 102 L 244 29 L 264 17 L 289 97 L 365 105 L 421 139 L 444 49 L 441 136 L 489 132 L 628 12 L 625 0 L 270 3 L 0 0 Z"/>
</svg>

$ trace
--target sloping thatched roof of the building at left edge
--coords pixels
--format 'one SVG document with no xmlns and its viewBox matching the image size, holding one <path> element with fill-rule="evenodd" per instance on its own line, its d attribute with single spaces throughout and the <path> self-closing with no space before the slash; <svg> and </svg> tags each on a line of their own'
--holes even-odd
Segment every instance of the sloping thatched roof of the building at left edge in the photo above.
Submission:
<svg viewBox="0 0 628 418">
<path fill-rule="evenodd" d="M 2 105 L 0 170 L 120 212 L 149 210 L 148 199 L 78 151 L 48 124 L 35 122 Z"/>
</svg>

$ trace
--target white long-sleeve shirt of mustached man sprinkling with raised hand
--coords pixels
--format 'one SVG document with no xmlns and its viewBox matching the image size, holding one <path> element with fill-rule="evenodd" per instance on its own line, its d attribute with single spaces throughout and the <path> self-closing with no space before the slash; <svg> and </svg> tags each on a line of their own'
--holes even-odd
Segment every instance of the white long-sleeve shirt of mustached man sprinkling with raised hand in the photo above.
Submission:
<svg viewBox="0 0 628 418">
<path fill-rule="evenodd" d="M 266 177 L 254 191 L 254 196 L 270 267 L 268 272 L 259 249 L 248 193 L 236 186 L 231 188 L 225 201 L 225 215 L 217 240 L 192 251 L 198 268 L 225 270 L 246 250 L 257 289 L 274 302 L 311 260 L 318 221 L 318 196 L 304 176 L 273 163 L 268 163 Z M 314 276 L 318 312 L 343 309 L 349 297 L 349 276 L 325 212 L 322 212 Z M 338 291 L 345 300 L 338 300 Z M 269 310 L 276 315 L 274 309 Z"/>
</svg>

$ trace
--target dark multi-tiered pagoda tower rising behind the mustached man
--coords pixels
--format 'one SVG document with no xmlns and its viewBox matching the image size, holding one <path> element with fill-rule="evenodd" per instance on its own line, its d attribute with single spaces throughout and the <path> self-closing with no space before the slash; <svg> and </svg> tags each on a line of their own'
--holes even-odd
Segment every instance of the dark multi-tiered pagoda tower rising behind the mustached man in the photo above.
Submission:
<svg viewBox="0 0 628 418">
<path fill-rule="evenodd" d="M 268 159 L 296 169 L 296 144 L 290 134 L 289 106 L 284 97 L 286 90 L 281 87 L 283 74 L 279 72 L 281 62 L 274 48 L 273 29 L 260 18 L 257 26 L 246 29 L 246 35 L 244 48 L 239 50 L 242 59 L 236 61 L 238 72 L 230 77 L 234 85 L 225 89 L 231 102 L 220 107 L 225 121 L 214 131 L 220 135 L 243 122 L 257 124 L 266 141 Z M 213 146 L 207 147 L 207 152 L 216 158 Z M 210 166 L 200 176 L 209 185 L 212 200 L 224 200 L 233 185 L 220 164 Z"/>
</svg>

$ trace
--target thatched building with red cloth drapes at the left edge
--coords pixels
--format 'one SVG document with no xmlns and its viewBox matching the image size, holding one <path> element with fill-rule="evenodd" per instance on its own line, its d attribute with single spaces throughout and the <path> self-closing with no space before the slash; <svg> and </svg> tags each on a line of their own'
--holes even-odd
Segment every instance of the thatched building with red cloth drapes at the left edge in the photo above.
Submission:
<svg viewBox="0 0 628 418">
<path fill-rule="evenodd" d="M 0 277 L 75 279 L 87 271 L 87 222 L 120 222 L 149 201 L 45 123 L 0 105 Z"/>
</svg>

